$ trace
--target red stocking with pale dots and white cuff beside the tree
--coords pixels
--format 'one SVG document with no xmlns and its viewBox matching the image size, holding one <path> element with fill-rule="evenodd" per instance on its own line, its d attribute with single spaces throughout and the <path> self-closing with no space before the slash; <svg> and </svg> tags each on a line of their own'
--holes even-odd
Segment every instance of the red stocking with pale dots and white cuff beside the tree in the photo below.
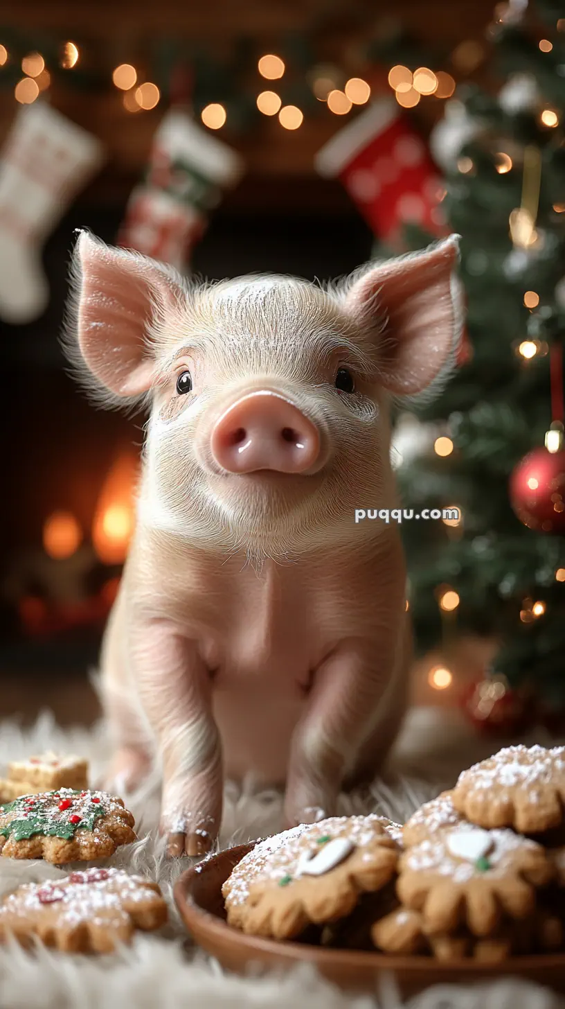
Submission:
<svg viewBox="0 0 565 1009">
<path fill-rule="evenodd" d="M 442 179 L 423 138 L 393 99 L 373 102 L 316 156 L 338 177 L 374 235 L 398 244 L 403 224 L 447 234 Z"/>
</svg>

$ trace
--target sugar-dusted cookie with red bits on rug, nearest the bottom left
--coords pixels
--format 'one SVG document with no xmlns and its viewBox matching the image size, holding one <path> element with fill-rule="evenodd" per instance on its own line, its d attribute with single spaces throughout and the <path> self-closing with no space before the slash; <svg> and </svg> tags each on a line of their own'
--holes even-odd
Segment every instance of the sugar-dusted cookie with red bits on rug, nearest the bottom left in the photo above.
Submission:
<svg viewBox="0 0 565 1009">
<path fill-rule="evenodd" d="M 0 939 L 37 937 L 72 952 L 111 952 L 133 931 L 166 921 L 156 883 L 121 869 L 87 869 L 59 880 L 25 883 L 0 903 Z"/>
</svg>

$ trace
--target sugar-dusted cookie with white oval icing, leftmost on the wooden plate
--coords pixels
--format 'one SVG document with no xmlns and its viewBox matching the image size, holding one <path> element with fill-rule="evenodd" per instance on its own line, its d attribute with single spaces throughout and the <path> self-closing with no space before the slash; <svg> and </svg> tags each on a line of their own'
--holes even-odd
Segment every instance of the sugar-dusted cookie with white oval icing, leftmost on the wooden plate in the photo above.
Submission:
<svg viewBox="0 0 565 1009">
<path fill-rule="evenodd" d="M 332 816 L 255 846 L 222 887 L 229 924 L 292 938 L 353 910 L 392 878 L 400 827 L 381 816 Z"/>
</svg>

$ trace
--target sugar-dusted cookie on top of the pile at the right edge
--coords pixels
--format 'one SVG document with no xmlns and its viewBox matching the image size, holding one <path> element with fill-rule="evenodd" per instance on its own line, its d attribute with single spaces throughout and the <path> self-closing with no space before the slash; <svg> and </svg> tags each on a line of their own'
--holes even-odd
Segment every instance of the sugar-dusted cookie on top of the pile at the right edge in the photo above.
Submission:
<svg viewBox="0 0 565 1009">
<path fill-rule="evenodd" d="M 506 747 L 459 775 L 453 805 L 480 826 L 537 833 L 563 821 L 565 747 Z"/>
</svg>

